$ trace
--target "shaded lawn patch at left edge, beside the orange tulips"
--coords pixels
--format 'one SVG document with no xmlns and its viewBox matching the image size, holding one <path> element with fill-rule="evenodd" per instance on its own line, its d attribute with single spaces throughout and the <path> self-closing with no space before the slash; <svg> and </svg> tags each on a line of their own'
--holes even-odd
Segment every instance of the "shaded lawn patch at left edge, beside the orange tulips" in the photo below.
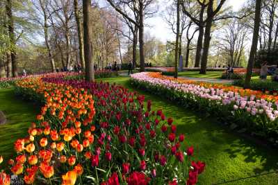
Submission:
<svg viewBox="0 0 278 185">
<path fill-rule="evenodd" d="M 0 89 L 0 110 L 8 120 L 5 125 L 0 125 L 0 155 L 6 160 L 15 155 L 13 143 L 28 135 L 28 127 L 40 108 L 16 97 L 13 89 Z"/>
</svg>

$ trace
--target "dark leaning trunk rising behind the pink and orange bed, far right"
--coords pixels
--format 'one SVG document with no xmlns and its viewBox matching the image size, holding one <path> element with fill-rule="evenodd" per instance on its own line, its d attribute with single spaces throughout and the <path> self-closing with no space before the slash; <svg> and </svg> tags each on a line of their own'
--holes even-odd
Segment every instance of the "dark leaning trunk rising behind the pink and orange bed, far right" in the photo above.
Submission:
<svg viewBox="0 0 278 185">
<path fill-rule="evenodd" d="M 245 88 L 250 88 L 250 80 L 251 80 L 251 75 L 252 75 L 252 69 L 254 66 L 256 47 L 258 45 L 259 28 L 260 28 L 260 21 L 261 21 L 260 19 L 261 19 L 261 0 L 256 0 L 252 46 L 250 49 L 250 55 L 249 55 L 249 60 L 248 60 L 248 64 L 247 64 L 247 73 L 245 76 L 245 85 L 244 85 Z"/>
</svg>

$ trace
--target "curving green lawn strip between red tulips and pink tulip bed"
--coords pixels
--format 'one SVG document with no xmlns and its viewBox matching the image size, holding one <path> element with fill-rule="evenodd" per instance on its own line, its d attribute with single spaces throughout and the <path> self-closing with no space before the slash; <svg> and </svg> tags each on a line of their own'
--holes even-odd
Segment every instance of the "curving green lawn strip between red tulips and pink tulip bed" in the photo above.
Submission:
<svg viewBox="0 0 278 185">
<path fill-rule="evenodd" d="M 136 90 L 128 80 L 123 77 L 103 79 Z M 273 173 L 278 169 L 277 150 L 243 139 L 212 118 L 205 118 L 202 113 L 137 91 L 152 100 L 154 109 L 163 109 L 165 116 L 174 118 L 178 132 L 186 134 L 186 145 L 195 147 L 196 159 L 206 162 L 199 184 L 278 184 L 278 174 Z"/>
</svg>

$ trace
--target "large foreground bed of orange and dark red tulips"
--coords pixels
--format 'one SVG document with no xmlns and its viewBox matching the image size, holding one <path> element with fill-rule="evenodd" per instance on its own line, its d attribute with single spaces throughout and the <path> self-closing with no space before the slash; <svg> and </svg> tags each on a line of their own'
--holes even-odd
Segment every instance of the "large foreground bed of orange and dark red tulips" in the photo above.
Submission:
<svg viewBox="0 0 278 185">
<path fill-rule="evenodd" d="M 8 161 L 26 184 L 196 184 L 204 170 L 172 118 L 124 87 L 48 76 L 15 88 L 44 103 Z"/>
</svg>

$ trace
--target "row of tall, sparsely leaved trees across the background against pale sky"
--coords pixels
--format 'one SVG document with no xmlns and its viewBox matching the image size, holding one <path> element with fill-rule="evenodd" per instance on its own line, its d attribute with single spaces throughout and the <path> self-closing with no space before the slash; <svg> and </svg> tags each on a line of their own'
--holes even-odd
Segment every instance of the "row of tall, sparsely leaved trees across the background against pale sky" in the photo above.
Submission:
<svg viewBox="0 0 278 185">
<path fill-rule="evenodd" d="M 250 0 L 238 12 L 224 6 L 226 0 L 172 1 L 163 17 L 176 40 L 167 44 L 145 35 L 145 19 L 158 11 L 156 1 L 106 0 L 106 3 L 109 6 L 101 8 L 95 1 L 1 1 L 1 76 L 5 75 L 4 71 L 8 77 L 17 76 L 17 53 L 22 52 L 20 49 L 31 48 L 30 45 L 38 45 L 35 40 L 38 35 L 43 36 L 40 42 L 43 39 L 44 49 L 34 53 L 38 53 L 37 58 L 41 58 L 43 53 L 47 55 L 43 59 L 51 71 L 81 64 L 89 72 L 91 69 L 86 68 L 90 61 L 88 58 L 92 58 L 100 69 L 117 58 L 121 63 L 132 58 L 133 67 L 139 60 L 140 71 L 145 71 L 145 62 L 156 58 L 167 63 L 174 60 L 172 64 L 177 77 L 179 58 L 185 55 L 185 67 L 194 60 L 194 66 L 201 67 L 200 73 L 206 73 L 210 59 L 216 60 L 215 66 L 221 65 L 218 61 L 223 58 L 231 66 L 242 64 L 249 35 L 256 33 L 253 28 L 259 30 L 260 49 L 270 51 L 277 47 L 277 1 L 263 1 L 260 8 L 255 9 L 258 8 L 255 1 Z M 258 11 L 259 24 L 254 24 L 257 20 L 252 17 Z M 250 19 L 254 21 L 248 21 Z M 254 44 L 250 51 L 253 62 L 255 55 L 252 55 L 257 50 Z M 88 52 L 90 55 L 86 55 Z M 224 57 L 220 60 L 219 56 Z M 248 66 L 250 69 L 253 65 L 248 63 Z"/>
</svg>

